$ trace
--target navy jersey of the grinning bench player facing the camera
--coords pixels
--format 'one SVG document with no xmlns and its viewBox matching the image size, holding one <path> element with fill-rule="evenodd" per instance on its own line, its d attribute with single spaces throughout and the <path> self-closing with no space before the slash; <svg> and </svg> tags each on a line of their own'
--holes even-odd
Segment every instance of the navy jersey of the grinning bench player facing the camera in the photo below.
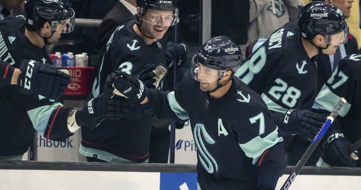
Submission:
<svg viewBox="0 0 361 190">
<path fill-rule="evenodd" d="M 114 71 L 121 70 L 137 77 L 148 63 L 164 64 L 165 38 L 147 45 L 135 33 L 135 23 L 135 17 L 131 16 L 110 37 L 90 97 L 103 92 L 106 77 Z M 106 119 L 93 130 L 82 128 L 79 152 L 105 161 L 147 162 L 151 121 L 149 114 L 136 107 L 120 120 Z"/>
</svg>

